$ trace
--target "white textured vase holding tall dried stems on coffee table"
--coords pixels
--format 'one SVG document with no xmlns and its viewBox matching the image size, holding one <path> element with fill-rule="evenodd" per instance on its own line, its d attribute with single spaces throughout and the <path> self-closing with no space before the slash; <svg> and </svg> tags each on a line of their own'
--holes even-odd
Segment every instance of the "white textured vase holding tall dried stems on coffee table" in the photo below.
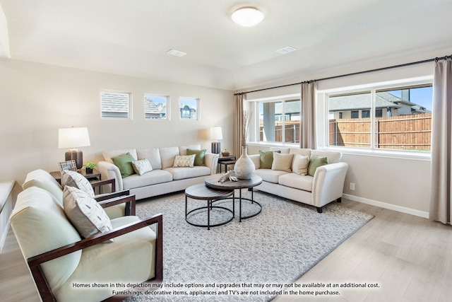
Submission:
<svg viewBox="0 0 452 302">
<path fill-rule="evenodd" d="M 254 167 L 253 161 L 248 156 L 248 147 L 246 146 L 246 137 L 248 137 L 249 122 L 251 121 L 252 112 L 244 110 L 242 113 L 242 156 L 237 159 L 234 165 L 234 172 L 237 178 L 249 180 L 253 177 Z"/>
</svg>

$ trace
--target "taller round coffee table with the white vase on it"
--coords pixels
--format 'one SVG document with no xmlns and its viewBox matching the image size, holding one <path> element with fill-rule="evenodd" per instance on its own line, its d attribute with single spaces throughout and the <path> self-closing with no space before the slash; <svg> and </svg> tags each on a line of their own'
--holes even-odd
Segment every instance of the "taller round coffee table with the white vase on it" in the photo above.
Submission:
<svg viewBox="0 0 452 302">
<path fill-rule="evenodd" d="M 253 175 L 253 177 L 249 180 L 240 180 L 239 179 L 236 182 L 230 181 L 230 180 L 226 180 L 225 182 L 219 182 L 218 180 L 221 178 L 221 176 L 222 176 L 222 174 L 208 176 L 204 180 L 204 182 L 206 183 L 207 187 L 211 187 L 213 189 L 227 190 L 227 191 L 235 190 L 235 189 L 239 190 L 239 221 L 242 221 L 242 219 L 248 219 L 248 218 L 254 217 L 261 213 L 262 206 L 261 206 L 261 204 L 259 204 L 258 202 L 256 202 L 254 200 L 253 190 L 251 189 L 252 187 L 256 187 L 256 185 L 261 185 L 261 183 L 262 183 L 261 176 Z M 251 189 L 251 199 L 242 197 L 242 189 Z M 259 207 L 259 210 L 254 214 L 242 217 L 242 200 L 251 202 L 251 204 L 257 204 Z M 234 201 L 235 201 L 235 194 L 232 195 L 232 203 L 233 204 L 234 204 Z"/>
</svg>

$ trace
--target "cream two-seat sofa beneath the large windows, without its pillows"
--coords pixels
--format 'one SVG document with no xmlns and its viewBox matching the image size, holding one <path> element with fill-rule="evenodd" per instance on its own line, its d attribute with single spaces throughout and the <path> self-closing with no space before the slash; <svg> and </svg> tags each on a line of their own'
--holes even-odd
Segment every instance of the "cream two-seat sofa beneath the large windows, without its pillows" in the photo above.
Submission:
<svg viewBox="0 0 452 302">
<path fill-rule="evenodd" d="M 256 190 L 309 204 L 316 207 L 319 213 L 329 202 L 334 200 L 340 202 L 348 168 L 347 163 L 340 162 L 342 153 L 299 148 L 270 148 L 270 151 L 294 154 L 294 159 L 297 154 L 309 156 L 309 158 L 312 155 L 326 156 L 328 164 L 316 168 L 314 176 L 299 175 L 283 170 L 261 169 L 260 155 L 253 154 L 249 157 L 256 167 L 256 175 L 261 176 L 263 180 L 261 185 L 255 187 Z M 292 167 L 290 167 L 292 171 L 293 163 L 292 160 Z"/>
</svg>

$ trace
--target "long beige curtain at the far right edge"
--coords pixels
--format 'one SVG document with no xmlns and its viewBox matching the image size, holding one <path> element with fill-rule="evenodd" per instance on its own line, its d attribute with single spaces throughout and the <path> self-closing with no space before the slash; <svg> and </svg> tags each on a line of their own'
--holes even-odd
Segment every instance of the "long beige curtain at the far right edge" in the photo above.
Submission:
<svg viewBox="0 0 452 302">
<path fill-rule="evenodd" d="M 435 62 L 429 218 L 451 223 L 452 61 Z"/>
</svg>

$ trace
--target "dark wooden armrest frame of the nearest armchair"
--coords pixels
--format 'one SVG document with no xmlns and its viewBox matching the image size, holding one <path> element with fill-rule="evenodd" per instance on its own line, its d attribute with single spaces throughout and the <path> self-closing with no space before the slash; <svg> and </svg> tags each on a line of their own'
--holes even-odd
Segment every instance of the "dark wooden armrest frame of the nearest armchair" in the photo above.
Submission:
<svg viewBox="0 0 452 302">
<path fill-rule="evenodd" d="M 105 244 L 106 240 L 122 236 L 126 233 L 131 233 L 139 228 L 145 228 L 157 224 L 156 228 L 156 249 L 155 249 L 155 278 L 157 282 L 162 282 L 163 279 L 163 216 L 162 214 L 157 214 L 155 216 L 149 217 L 147 219 L 142 219 L 134 223 L 129 223 L 121 228 L 116 228 L 112 231 L 106 233 L 97 233 L 89 238 L 82 239 L 76 243 L 71 243 L 69 245 L 64 245 L 61 248 L 50 250 L 49 252 L 44 252 L 40 255 L 30 257 L 27 259 L 28 267 L 30 272 L 35 279 L 35 283 L 42 301 L 56 301 L 55 297 L 50 289 L 47 280 L 44 277 L 44 272 L 42 270 L 41 264 L 50 260 L 63 257 L 71 252 L 76 252 L 77 250 L 82 250 L 84 248 L 89 248 L 92 245 Z"/>
</svg>

